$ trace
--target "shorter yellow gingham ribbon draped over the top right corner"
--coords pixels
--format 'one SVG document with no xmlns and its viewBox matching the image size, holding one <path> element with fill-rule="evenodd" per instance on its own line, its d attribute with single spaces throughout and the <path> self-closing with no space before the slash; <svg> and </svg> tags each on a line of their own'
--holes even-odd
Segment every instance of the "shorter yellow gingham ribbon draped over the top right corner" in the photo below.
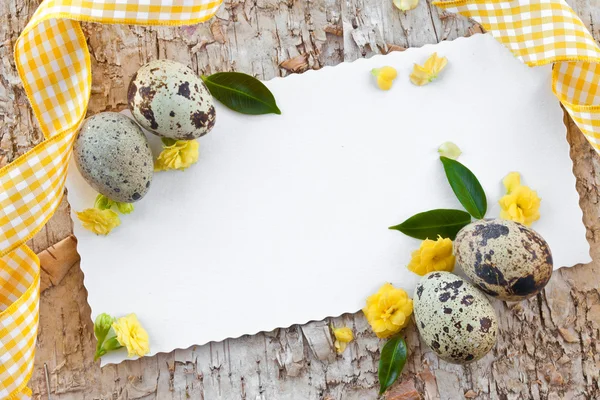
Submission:
<svg viewBox="0 0 600 400">
<path fill-rule="evenodd" d="M 600 153 L 600 48 L 564 0 L 434 4 L 473 18 L 531 67 L 553 63 L 554 94 Z"/>
</svg>

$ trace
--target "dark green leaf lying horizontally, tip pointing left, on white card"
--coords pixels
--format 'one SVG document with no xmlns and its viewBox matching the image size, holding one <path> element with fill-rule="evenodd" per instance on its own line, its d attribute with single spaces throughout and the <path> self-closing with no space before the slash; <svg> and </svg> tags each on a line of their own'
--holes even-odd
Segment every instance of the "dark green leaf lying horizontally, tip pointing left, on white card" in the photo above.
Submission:
<svg viewBox="0 0 600 400">
<path fill-rule="evenodd" d="M 454 240 L 458 231 L 471 222 L 469 213 L 461 210 L 430 210 L 415 214 L 400 225 L 390 226 L 417 239 L 437 239 L 438 235 Z"/>
</svg>

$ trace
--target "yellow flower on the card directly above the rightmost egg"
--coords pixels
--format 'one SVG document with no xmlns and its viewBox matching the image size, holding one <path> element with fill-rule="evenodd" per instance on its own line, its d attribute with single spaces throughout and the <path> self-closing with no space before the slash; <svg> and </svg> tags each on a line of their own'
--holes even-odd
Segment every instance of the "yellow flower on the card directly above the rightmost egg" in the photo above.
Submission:
<svg viewBox="0 0 600 400">
<path fill-rule="evenodd" d="M 540 219 L 541 199 L 537 192 L 528 186 L 521 185 L 518 172 L 511 172 L 503 180 L 506 195 L 498 202 L 500 204 L 500 218 L 531 226 Z"/>
</svg>

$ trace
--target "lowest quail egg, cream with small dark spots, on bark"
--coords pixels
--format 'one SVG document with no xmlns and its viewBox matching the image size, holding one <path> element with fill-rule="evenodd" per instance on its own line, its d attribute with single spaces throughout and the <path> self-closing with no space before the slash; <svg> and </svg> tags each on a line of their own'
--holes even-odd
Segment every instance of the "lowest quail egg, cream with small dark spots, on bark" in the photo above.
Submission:
<svg viewBox="0 0 600 400">
<path fill-rule="evenodd" d="M 450 272 L 430 272 L 413 298 L 421 338 L 440 358 L 456 364 L 477 361 L 496 343 L 496 313 L 483 293 Z"/>
</svg>

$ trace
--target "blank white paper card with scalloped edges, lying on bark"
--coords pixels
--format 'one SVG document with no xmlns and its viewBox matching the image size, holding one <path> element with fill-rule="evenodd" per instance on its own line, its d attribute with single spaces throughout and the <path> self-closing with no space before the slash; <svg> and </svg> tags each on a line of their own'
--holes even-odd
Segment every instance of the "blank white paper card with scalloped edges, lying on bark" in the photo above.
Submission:
<svg viewBox="0 0 600 400">
<path fill-rule="evenodd" d="M 441 78 L 413 86 L 413 63 L 434 51 L 449 60 Z M 388 92 L 370 75 L 383 65 L 398 70 Z M 109 236 L 73 214 L 92 317 L 137 313 L 155 354 L 354 312 L 388 281 L 412 294 L 419 241 L 388 227 L 461 208 L 438 159 L 445 141 L 481 181 L 488 217 L 519 171 L 542 198 L 533 228 L 555 267 L 589 262 L 550 74 L 476 35 L 266 82 L 281 116 L 219 105 L 198 164 L 156 174 Z M 68 189 L 74 211 L 94 204 L 74 166 Z"/>
</svg>

